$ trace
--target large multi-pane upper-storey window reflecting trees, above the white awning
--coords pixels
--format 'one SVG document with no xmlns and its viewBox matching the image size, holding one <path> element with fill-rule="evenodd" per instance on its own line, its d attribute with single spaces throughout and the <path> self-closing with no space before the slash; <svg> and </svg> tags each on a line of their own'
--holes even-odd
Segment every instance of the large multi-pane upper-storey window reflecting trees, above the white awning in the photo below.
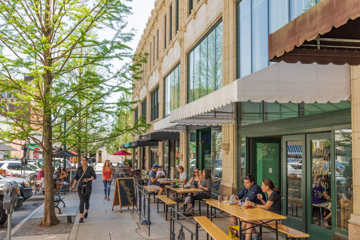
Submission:
<svg viewBox="0 0 360 240">
<path fill-rule="evenodd" d="M 188 102 L 222 86 L 222 22 L 188 55 Z"/>
</svg>

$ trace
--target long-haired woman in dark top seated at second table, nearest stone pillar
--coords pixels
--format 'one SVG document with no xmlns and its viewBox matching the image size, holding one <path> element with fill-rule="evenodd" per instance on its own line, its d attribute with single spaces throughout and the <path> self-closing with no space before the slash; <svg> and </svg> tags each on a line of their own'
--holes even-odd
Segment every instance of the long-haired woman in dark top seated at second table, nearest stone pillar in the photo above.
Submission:
<svg viewBox="0 0 360 240">
<path fill-rule="evenodd" d="M 199 189 L 203 189 L 204 191 L 190 196 L 190 204 L 189 204 L 189 208 L 187 209 L 186 213 L 194 212 L 193 206 L 194 206 L 195 200 L 211 198 L 212 179 L 211 179 L 210 170 L 207 168 L 204 168 L 204 170 L 202 172 L 203 172 L 203 174 L 200 175 Z"/>
</svg>

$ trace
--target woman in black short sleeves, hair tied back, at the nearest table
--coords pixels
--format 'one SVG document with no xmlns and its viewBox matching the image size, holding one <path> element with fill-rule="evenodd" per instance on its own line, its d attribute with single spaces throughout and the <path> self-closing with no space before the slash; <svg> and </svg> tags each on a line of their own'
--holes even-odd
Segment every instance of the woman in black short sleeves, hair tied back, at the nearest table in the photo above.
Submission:
<svg viewBox="0 0 360 240">
<path fill-rule="evenodd" d="M 258 208 L 262 208 L 265 210 L 268 210 L 270 212 L 276 213 L 276 214 L 281 214 L 281 197 L 280 197 L 280 190 L 278 189 L 278 187 L 274 186 L 274 183 L 270 180 L 270 179 L 264 179 L 262 182 L 262 186 L 261 189 L 263 190 L 263 192 L 268 193 L 268 201 L 265 201 L 262 196 L 260 194 L 258 194 L 258 199 L 264 204 L 264 205 L 257 205 L 255 203 L 252 203 L 250 201 L 245 202 L 245 206 L 255 206 Z M 273 220 L 267 224 L 275 224 L 276 220 Z M 251 221 L 251 223 L 254 224 L 262 224 L 262 222 L 260 221 Z M 253 227 L 253 224 L 246 224 L 243 223 L 242 228 L 243 229 L 247 229 L 247 228 L 251 228 Z M 249 230 L 247 230 L 246 232 L 246 240 L 251 240 L 251 235 L 255 234 L 254 239 L 253 240 L 259 240 L 260 235 L 256 232 L 255 228 L 251 228 Z"/>
</svg>

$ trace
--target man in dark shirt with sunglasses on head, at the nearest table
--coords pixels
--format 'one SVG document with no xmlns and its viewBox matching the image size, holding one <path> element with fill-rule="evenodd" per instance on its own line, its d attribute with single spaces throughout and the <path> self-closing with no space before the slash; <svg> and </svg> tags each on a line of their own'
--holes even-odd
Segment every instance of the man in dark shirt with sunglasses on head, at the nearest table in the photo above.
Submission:
<svg viewBox="0 0 360 240">
<path fill-rule="evenodd" d="M 244 177 L 244 187 L 241 189 L 239 194 L 235 196 L 237 202 L 245 202 L 246 198 L 249 199 L 250 202 L 254 202 L 259 205 L 263 205 L 263 202 L 258 199 L 257 195 L 261 194 L 262 198 L 266 201 L 265 194 L 261 187 L 255 183 L 255 177 L 253 174 L 246 174 Z M 239 222 L 235 216 L 230 215 L 230 225 L 238 226 Z M 231 229 L 230 231 L 233 235 L 238 236 L 238 231 L 235 229 Z"/>
</svg>

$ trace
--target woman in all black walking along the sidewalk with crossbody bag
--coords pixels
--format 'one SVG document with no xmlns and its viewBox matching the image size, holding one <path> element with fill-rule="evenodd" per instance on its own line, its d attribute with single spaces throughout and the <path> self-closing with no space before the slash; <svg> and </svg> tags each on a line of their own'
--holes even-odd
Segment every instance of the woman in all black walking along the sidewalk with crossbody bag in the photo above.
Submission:
<svg viewBox="0 0 360 240">
<path fill-rule="evenodd" d="M 88 217 L 89 207 L 90 207 L 90 195 L 91 195 L 91 187 L 92 187 L 92 180 L 96 179 L 96 174 L 94 169 L 88 165 L 88 158 L 82 157 L 81 158 L 82 166 L 78 167 L 76 172 L 76 176 L 74 177 L 74 184 L 73 189 L 75 189 L 75 184 L 77 181 L 78 183 L 78 194 L 80 198 L 80 221 L 82 223 L 84 218 Z M 85 204 L 85 214 L 84 214 L 84 204 Z"/>
</svg>

